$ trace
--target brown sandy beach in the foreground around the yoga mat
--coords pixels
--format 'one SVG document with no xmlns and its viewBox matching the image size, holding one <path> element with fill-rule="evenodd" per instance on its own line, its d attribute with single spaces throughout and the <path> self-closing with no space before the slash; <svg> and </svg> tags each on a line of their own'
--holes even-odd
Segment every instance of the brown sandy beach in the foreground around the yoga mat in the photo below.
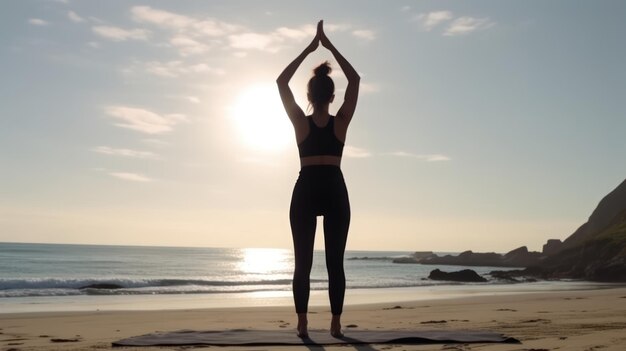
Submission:
<svg viewBox="0 0 626 351">
<path fill-rule="evenodd" d="M 111 349 L 113 341 L 155 331 L 294 329 L 291 307 L 0 314 L 3 350 Z M 327 307 L 313 307 L 311 329 L 325 329 Z M 319 350 L 623 350 L 626 287 L 472 296 L 346 306 L 344 330 L 486 330 L 521 344 L 325 346 Z M 218 347 L 213 347 L 218 348 Z M 116 348 L 120 349 L 120 348 Z M 176 349 L 152 347 L 142 349 Z M 219 347 L 306 350 L 304 346 Z"/>
</svg>

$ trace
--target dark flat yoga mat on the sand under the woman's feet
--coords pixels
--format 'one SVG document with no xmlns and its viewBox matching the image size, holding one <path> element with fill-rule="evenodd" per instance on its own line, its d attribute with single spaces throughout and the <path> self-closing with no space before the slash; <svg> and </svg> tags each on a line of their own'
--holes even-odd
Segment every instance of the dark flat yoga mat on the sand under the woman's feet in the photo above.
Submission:
<svg viewBox="0 0 626 351">
<path fill-rule="evenodd" d="M 293 330 L 224 331 L 180 330 L 134 336 L 113 346 L 270 346 L 337 344 L 447 344 L 447 343 L 519 343 L 499 333 L 467 330 L 351 330 L 343 338 L 333 338 L 327 330 L 309 331 L 300 339 Z"/>
</svg>

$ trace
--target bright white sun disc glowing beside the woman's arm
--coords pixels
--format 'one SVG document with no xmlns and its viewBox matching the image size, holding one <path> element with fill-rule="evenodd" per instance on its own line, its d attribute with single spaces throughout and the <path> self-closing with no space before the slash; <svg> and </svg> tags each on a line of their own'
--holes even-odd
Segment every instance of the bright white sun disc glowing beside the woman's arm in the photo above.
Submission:
<svg viewBox="0 0 626 351">
<path fill-rule="evenodd" d="M 270 84 L 248 86 L 231 109 L 242 142 L 260 151 L 280 151 L 294 142 L 293 128 L 278 95 Z"/>
</svg>

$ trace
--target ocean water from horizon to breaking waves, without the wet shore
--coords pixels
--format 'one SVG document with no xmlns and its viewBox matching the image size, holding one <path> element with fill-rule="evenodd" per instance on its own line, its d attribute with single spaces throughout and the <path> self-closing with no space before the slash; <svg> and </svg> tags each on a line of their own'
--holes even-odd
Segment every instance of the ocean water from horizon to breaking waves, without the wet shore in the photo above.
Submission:
<svg viewBox="0 0 626 351">
<path fill-rule="evenodd" d="M 409 254 L 347 251 L 347 288 L 445 284 L 425 280 L 441 266 L 392 262 Z M 292 272 L 286 249 L 0 243 L 0 298 L 290 291 Z M 324 252 L 315 251 L 311 289 L 326 287 Z"/>
</svg>

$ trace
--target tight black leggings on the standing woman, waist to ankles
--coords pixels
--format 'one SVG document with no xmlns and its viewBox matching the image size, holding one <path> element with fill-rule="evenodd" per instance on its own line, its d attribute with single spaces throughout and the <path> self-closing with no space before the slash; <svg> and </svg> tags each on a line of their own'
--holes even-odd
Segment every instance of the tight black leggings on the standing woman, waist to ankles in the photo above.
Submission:
<svg viewBox="0 0 626 351">
<path fill-rule="evenodd" d="M 350 201 L 337 166 L 303 167 L 293 189 L 289 221 L 296 263 L 293 298 L 297 313 L 306 313 L 308 309 L 317 216 L 324 216 L 330 307 L 332 314 L 340 315 L 346 291 L 343 255 L 350 226 Z"/>
</svg>

